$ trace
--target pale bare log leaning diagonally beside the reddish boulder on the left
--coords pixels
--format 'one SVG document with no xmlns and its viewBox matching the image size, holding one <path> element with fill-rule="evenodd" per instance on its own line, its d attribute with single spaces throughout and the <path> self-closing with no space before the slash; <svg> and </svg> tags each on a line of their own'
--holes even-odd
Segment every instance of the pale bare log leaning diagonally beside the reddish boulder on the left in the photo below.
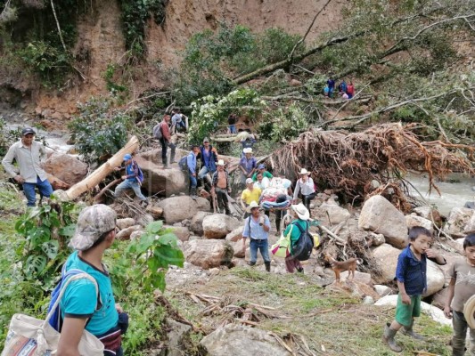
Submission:
<svg viewBox="0 0 475 356">
<path fill-rule="evenodd" d="M 99 182 L 101 182 L 107 175 L 111 174 L 116 166 L 120 166 L 124 159 L 124 155 L 132 154 L 138 148 L 138 140 L 135 136 L 126 143 L 114 156 L 109 158 L 102 166 L 97 168 L 92 174 L 86 176 L 81 182 L 74 184 L 69 190 L 66 190 L 68 198 L 78 198 L 86 190 L 93 189 Z"/>
</svg>

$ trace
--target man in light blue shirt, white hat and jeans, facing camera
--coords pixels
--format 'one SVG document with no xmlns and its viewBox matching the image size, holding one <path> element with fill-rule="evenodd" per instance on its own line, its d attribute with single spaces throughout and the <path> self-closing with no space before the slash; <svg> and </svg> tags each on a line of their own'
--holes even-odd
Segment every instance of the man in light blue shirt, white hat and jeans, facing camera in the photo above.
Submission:
<svg viewBox="0 0 475 356">
<path fill-rule="evenodd" d="M 250 239 L 250 266 L 255 266 L 258 261 L 258 250 L 264 259 L 266 271 L 271 271 L 271 259 L 269 257 L 269 231 L 271 223 L 267 215 L 261 215 L 257 202 L 250 202 L 246 209 L 250 214 L 244 220 L 244 231 L 242 231 L 242 253 L 246 253 L 246 239 Z"/>
</svg>

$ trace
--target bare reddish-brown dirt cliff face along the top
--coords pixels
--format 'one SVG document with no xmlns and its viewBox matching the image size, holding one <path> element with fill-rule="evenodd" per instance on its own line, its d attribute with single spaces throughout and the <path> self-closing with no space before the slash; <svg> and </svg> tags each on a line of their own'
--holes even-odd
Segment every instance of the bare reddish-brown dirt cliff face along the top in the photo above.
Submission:
<svg viewBox="0 0 475 356">
<path fill-rule="evenodd" d="M 130 85 L 132 99 L 148 88 L 163 85 L 164 73 L 178 66 L 179 51 L 198 31 L 217 28 L 223 22 L 230 26 L 243 24 L 255 31 L 280 27 L 304 34 L 325 3 L 326 0 L 171 0 L 163 27 L 150 20 L 146 28 L 146 59 L 130 74 L 135 77 Z M 344 4 L 347 1 L 333 0 L 327 6 L 310 32 L 309 41 L 338 26 Z M 70 82 L 61 93 L 29 88 L 31 95 L 23 95 L 22 108 L 46 119 L 67 119 L 76 111 L 78 101 L 107 92 L 102 74 L 109 64 L 124 61 L 126 53 L 118 2 L 95 0 L 93 11 L 78 21 L 78 34 L 73 52 L 81 59 L 78 69 L 86 81 Z M 54 124 L 46 120 L 45 125 Z"/>
</svg>

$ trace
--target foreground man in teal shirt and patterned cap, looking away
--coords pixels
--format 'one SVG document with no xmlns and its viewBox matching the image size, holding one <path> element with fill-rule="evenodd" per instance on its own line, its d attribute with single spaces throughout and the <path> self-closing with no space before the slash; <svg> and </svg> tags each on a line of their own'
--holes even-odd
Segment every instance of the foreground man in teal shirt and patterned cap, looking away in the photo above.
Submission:
<svg viewBox="0 0 475 356">
<path fill-rule="evenodd" d="M 94 278 L 71 280 L 60 301 L 62 325 L 57 355 L 79 355 L 78 344 L 84 329 L 104 344 L 104 355 L 122 356 L 122 334 L 128 317 L 115 303 L 109 272 L 102 256 L 116 237 L 116 213 L 102 204 L 87 206 L 78 217 L 70 247 L 75 251 L 63 269 L 79 270 Z"/>
</svg>

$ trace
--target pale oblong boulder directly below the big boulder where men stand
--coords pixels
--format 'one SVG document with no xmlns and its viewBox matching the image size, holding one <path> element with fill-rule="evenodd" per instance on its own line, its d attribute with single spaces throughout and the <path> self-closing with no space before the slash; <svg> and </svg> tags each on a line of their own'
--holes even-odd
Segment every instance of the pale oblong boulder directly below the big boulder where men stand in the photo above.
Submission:
<svg viewBox="0 0 475 356">
<path fill-rule="evenodd" d="M 188 196 L 166 198 L 158 204 L 163 209 L 165 223 L 178 223 L 191 219 L 198 211 L 209 211 L 211 205 L 204 198 L 193 200 Z"/>
</svg>

